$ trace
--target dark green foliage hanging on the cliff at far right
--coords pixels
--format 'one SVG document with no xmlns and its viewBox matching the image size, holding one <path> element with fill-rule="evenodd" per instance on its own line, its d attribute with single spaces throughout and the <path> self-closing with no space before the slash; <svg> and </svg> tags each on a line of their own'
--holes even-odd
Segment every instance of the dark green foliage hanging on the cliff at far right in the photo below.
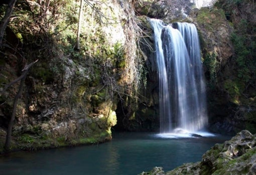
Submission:
<svg viewBox="0 0 256 175">
<path fill-rule="evenodd" d="M 234 31 L 231 33 L 231 42 L 234 49 L 233 63 L 234 72 L 232 75 L 233 82 L 237 85 L 243 84 L 243 88 L 239 89 L 239 93 L 229 89 L 232 98 L 234 94 L 238 97 L 242 93 L 253 96 L 249 89 L 256 87 L 256 25 L 255 25 L 255 7 L 254 1 L 249 0 L 219 0 L 218 7 L 225 11 L 226 19 L 231 23 Z M 243 90 L 243 92 L 241 91 Z M 236 92 L 235 92 L 236 91 Z M 249 100 L 242 100 L 245 103 L 250 103 Z"/>
</svg>

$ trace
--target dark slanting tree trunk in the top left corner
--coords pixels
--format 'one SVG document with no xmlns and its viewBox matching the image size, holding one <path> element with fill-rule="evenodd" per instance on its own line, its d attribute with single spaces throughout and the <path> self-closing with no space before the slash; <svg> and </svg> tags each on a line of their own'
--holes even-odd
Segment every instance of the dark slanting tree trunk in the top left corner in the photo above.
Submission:
<svg viewBox="0 0 256 175">
<path fill-rule="evenodd" d="M 5 31 L 6 31 L 6 27 L 9 23 L 9 21 L 10 21 L 10 18 L 11 18 L 11 15 L 13 13 L 13 9 L 14 9 L 16 1 L 17 0 L 11 0 L 10 4 L 7 6 L 5 16 L 1 20 L 1 23 L 0 23 L 0 47 L 2 45 L 3 38 L 4 38 L 4 35 L 5 35 Z"/>
</svg>

